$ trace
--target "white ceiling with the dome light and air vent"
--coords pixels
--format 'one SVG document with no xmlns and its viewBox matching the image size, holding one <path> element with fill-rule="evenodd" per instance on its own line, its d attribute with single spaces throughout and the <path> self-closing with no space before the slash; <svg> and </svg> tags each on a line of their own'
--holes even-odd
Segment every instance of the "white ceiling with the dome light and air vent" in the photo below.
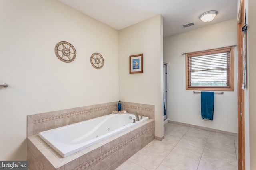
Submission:
<svg viewBox="0 0 256 170">
<path fill-rule="evenodd" d="M 161 14 L 164 37 L 237 18 L 237 0 L 58 0 L 117 30 Z M 218 11 L 203 23 L 200 14 Z M 182 25 L 195 25 L 183 28 Z"/>
</svg>

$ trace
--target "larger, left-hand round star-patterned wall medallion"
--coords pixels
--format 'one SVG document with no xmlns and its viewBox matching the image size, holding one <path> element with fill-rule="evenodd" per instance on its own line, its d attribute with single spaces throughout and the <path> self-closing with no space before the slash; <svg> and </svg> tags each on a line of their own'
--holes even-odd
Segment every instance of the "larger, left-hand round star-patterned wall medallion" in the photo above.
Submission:
<svg viewBox="0 0 256 170">
<path fill-rule="evenodd" d="M 76 49 L 66 41 L 60 41 L 55 46 L 55 54 L 61 61 L 72 62 L 76 58 Z"/>
</svg>

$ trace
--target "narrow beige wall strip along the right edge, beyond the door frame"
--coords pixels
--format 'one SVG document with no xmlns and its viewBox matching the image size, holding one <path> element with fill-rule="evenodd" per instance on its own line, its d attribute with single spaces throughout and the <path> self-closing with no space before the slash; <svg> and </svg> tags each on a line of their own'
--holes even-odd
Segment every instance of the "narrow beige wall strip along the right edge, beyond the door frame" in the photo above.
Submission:
<svg viewBox="0 0 256 170">
<path fill-rule="evenodd" d="M 245 0 L 245 8 L 247 9 L 247 23 L 248 23 L 248 35 L 247 35 L 247 42 L 248 42 L 248 48 L 247 48 L 247 80 L 248 80 L 248 86 L 246 89 L 246 95 L 245 98 L 248 99 L 248 103 L 245 103 L 246 105 L 246 115 L 245 117 L 245 123 L 246 127 L 249 127 L 245 130 L 246 135 L 246 143 L 245 145 L 249 145 L 250 148 L 247 151 L 246 156 L 250 153 L 250 158 L 246 157 L 246 170 L 256 169 L 256 22 L 255 22 L 255 16 L 256 16 L 256 2 L 255 0 Z M 249 125 L 248 125 L 249 124 Z M 246 146 L 248 148 L 248 146 Z M 250 161 L 250 166 L 248 165 L 248 162 Z"/>
</svg>

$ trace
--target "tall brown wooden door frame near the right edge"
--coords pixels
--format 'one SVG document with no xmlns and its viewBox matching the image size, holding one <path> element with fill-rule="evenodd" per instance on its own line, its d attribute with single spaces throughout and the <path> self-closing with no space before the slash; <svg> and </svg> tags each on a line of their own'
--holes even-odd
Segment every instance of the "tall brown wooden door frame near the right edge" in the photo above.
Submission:
<svg viewBox="0 0 256 170">
<path fill-rule="evenodd" d="M 243 32 L 244 26 L 244 0 L 241 0 L 238 23 L 237 23 L 237 50 L 238 50 L 238 82 L 237 82 L 237 127 L 238 127 L 238 170 L 244 170 L 244 90 L 242 90 L 243 84 Z"/>
</svg>

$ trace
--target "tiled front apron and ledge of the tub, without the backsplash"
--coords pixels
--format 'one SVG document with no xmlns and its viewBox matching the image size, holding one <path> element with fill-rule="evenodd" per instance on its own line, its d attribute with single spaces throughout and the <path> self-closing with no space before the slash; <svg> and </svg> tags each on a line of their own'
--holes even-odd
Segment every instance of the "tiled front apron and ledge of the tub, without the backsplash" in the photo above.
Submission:
<svg viewBox="0 0 256 170">
<path fill-rule="evenodd" d="M 30 170 L 114 170 L 154 139 L 154 120 L 148 119 L 117 135 L 62 158 L 38 135 L 28 137 Z"/>
</svg>

